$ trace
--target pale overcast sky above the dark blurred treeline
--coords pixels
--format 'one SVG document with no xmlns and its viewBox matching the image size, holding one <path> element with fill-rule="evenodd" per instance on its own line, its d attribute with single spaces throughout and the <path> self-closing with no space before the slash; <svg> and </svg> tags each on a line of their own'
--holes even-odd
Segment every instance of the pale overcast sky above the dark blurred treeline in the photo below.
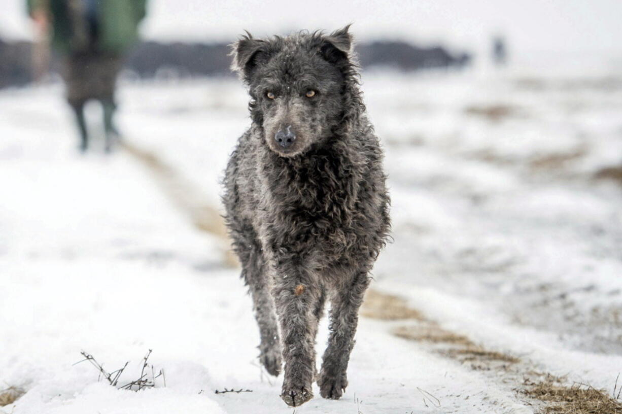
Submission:
<svg viewBox="0 0 622 414">
<path fill-rule="evenodd" d="M 0 35 L 29 37 L 24 2 L 0 0 Z M 147 39 L 230 41 L 243 29 L 266 35 L 353 22 L 361 40 L 406 38 L 478 52 L 501 33 L 517 54 L 622 56 L 621 19 L 622 0 L 151 0 L 142 32 Z"/>
</svg>

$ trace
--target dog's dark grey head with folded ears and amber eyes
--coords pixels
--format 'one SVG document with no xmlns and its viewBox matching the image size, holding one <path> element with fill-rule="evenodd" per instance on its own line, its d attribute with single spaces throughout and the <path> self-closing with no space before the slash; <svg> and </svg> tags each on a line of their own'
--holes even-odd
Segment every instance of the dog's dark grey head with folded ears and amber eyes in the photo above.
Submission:
<svg viewBox="0 0 622 414">
<path fill-rule="evenodd" d="M 346 85 L 357 76 L 349 27 L 270 39 L 247 32 L 233 45 L 233 68 L 249 87 L 251 117 L 282 157 L 321 145 L 343 121 Z"/>
</svg>

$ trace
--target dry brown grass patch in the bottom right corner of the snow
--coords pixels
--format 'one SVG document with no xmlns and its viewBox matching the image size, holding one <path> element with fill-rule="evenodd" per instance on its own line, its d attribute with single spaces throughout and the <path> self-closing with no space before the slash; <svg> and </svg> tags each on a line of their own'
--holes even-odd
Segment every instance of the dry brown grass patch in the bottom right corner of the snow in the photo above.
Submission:
<svg viewBox="0 0 622 414">
<path fill-rule="evenodd" d="M 584 384 L 568 387 L 554 377 L 532 384 L 523 392 L 527 397 L 546 403 L 541 411 L 544 414 L 622 413 L 622 403 L 611 398 L 603 390 L 597 390 Z"/>
</svg>

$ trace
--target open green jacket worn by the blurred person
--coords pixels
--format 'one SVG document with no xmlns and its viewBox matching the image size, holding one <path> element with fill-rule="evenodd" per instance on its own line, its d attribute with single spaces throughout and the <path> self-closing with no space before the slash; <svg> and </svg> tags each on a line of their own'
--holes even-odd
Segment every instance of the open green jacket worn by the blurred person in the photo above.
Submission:
<svg viewBox="0 0 622 414">
<path fill-rule="evenodd" d="M 83 24 L 72 19 L 70 3 L 78 7 L 81 0 L 27 0 L 30 16 L 35 9 L 47 12 L 52 47 L 60 53 L 80 52 L 84 36 Z M 97 0 L 99 35 L 96 46 L 103 52 L 123 53 L 138 40 L 138 24 L 145 17 L 147 0 Z M 81 40 L 82 39 L 82 40 Z"/>
</svg>

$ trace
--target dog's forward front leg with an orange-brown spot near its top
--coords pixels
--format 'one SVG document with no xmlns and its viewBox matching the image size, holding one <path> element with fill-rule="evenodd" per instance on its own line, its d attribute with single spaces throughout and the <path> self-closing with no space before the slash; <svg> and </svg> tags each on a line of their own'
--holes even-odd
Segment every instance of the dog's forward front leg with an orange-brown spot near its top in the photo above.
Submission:
<svg viewBox="0 0 622 414">
<path fill-rule="evenodd" d="M 277 268 L 273 293 L 285 361 L 281 398 L 298 407 L 313 398 L 316 314 L 322 289 L 302 267 L 288 265 Z"/>
</svg>

